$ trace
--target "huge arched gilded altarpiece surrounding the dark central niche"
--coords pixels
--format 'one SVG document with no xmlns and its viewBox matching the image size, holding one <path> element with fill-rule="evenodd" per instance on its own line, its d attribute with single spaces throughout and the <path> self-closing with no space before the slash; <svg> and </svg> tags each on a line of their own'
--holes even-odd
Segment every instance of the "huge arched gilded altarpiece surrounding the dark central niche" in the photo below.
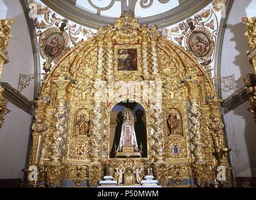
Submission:
<svg viewBox="0 0 256 200">
<path fill-rule="evenodd" d="M 152 92 L 156 101 L 147 98 Z M 127 99 L 146 114 L 147 156 L 110 158 L 110 114 Z M 230 170 L 220 104 L 189 53 L 125 13 L 70 50 L 45 77 L 29 161 L 39 178 L 28 186 L 95 187 L 104 175 L 118 179 L 119 169 L 124 177 L 135 169 L 141 178 L 152 173 L 164 187 L 216 185 L 216 168 Z M 134 172 L 129 183 L 136 180 Z"/>
</svg>

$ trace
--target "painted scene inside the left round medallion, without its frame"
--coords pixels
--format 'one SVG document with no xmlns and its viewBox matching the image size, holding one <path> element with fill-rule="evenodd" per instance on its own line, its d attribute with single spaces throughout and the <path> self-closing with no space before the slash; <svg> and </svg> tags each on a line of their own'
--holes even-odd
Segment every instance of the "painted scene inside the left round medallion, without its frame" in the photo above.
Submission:
<svg viewBox="0 0 256 200">
<path fill-rule="evenodd" d="M 56 57 L 63 51 L 63 38 L 59 34 L 52 34 L 45 42 L 45 51 L 51 57 Z"/>
</svg>

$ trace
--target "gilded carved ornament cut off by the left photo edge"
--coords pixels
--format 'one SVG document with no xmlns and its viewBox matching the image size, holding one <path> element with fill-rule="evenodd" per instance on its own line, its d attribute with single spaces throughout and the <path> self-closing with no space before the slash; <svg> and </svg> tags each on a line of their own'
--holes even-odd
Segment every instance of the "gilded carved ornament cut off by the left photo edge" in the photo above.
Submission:
<svg viewBox="0 0 256 200">
<path fill-rule="evenodd" d="M 3 67 L 5 63 L 9 62 L 9 58 L 4 51 L 8 47 L 9 38 L 11 35 L 11 25 L 14 23 L 14 20 L 0 20 L 0 81 L 3 74 Z M 4 117 L 10 111 L 7 108 L 8 100 L 4 98 L 4 89 L 0 85 L 0 128 L 2 128 L 4 123 Z"/>
</svg>

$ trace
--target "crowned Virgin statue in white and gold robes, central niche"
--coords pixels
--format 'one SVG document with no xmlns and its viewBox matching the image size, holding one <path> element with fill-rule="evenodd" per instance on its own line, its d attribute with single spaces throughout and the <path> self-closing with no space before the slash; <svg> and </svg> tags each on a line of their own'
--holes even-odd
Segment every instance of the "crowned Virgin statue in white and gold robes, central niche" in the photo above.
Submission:
<svg viewBox="0 0 256 200">
<path fill-rule="evenodd" d="M 124 111 L 124 123 L 122 124 L 122 131 L 120 136 L 120 143 L 117 151 L 120 152 L 123 146 L 134 146 L 138 151 L 138 144 L 136 133 L 134 131 L 134 124 L 131 119 L 132 112 L 130 110 Z"/>
</svg>

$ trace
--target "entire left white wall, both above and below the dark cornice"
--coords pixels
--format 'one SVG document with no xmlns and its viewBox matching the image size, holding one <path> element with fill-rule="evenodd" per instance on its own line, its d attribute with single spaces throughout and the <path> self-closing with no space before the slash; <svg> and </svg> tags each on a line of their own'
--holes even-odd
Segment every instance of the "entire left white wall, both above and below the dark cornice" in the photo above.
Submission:
<svg viewBox="0 0 256 200">
<path fill-rule="evenodd" d="M 3 0 L 8 8 L 6 19 L 14 19 L 11 27 L 13 37 L 6 49 L 10 62 L 4 66 L 2 82 L 18 89 L 19 74 L 34 74 L 33 49 L 29 29 L 19 0 Z M 30 101 L 34 97 L 34 81 L 23 95 Z M 11 113 L 6 115 L 0 129 L 0 179 L 23 177 L 22 169 L 26 161 L 31 116 L 13 104 L 8 104 Z"/>
</svg>

